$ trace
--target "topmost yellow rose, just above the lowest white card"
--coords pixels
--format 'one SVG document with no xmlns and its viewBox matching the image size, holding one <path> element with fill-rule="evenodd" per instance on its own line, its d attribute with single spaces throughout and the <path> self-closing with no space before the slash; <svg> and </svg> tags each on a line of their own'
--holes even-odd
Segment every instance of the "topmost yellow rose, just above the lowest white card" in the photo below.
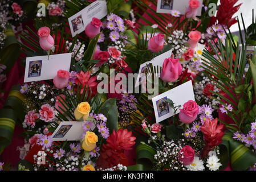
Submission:
<svg viewBox="0 0 256 182">
<path fill-rule="evenodd" d="M 88 102 L 81 102 L 75 109 L 74 115 L 76 120 L 86 120 L 89 117 L 91 106 Z"/>
</svg>

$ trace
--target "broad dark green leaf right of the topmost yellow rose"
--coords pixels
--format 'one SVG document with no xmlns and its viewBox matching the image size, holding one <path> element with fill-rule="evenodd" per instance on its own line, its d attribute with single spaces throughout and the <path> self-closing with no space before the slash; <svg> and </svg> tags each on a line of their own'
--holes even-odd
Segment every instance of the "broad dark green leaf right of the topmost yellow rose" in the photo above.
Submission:
<svg viewBox="0 0 256 182">
<path fill-rule="evenodd" d="M 116 130 L 118 128 L 118 110 L 116 106 L 116 98 L 109 98 L 100 107 L 98 114 L 104 114 L 107 117 L 107 127 L 109 131 Z"/>
</svg>

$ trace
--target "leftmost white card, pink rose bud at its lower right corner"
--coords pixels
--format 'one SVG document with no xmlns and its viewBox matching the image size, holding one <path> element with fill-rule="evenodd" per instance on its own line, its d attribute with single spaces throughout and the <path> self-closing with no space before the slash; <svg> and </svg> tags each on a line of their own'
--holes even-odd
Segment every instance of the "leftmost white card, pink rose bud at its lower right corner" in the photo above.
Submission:
<svg viewBox="0 0 256 182">
<path fill-rule="evenodd" d="M 24 82 L 51 80 L 59 69 L 70 71 L 72 53 L 27 57 Z"/>
</svg>

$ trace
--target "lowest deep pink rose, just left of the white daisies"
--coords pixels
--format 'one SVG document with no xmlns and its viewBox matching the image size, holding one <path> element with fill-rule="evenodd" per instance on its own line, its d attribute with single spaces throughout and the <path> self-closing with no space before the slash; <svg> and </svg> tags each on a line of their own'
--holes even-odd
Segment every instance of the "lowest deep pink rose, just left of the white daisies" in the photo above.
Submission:
<svg viewBox="0 0 256 182">
<path fill-rule="evenodd" d="M 184 146 L 180 152 L 178 152 L 178 158 L 184 166 L 189 166 L 194 161 L 194 149 L 190 146 Z"/>
</svg>

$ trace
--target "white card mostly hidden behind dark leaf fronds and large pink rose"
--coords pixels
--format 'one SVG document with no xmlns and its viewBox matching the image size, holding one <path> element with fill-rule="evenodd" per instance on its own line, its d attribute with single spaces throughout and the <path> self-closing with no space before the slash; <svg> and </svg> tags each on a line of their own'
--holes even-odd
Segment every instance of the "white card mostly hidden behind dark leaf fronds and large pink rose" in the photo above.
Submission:
<svg viewBox="0 0 256 182">
<path fill-rule="evenodd" d="M 153 67 L 157 68 L 157 66 L 159 66 L 159 71 L 160 71 L 160 67 L 162 67 L 162 64 L 164 63 L 164 60 L 166 58 L 169 58 L 171 55 L 172 55 L 172 50 L 167 51 L 165 53 L 162 53 L 161 55 L 155 57 L 151 61 L 148 61 L 146 63 L 141 64 L 140 69 L 139 69 L 139 73 L 138 73 L 138 77 L 137 77 L 136 82 L 135 82 L 135 87 L 137 87 L 141 84 L 140 77 L 141 77 L 141 80 L 145 79 L 145 75 L 141 75 L 141 74 L 145 73 L 147 71 L 147 69 L 148 69 L 147 65 L 152 63 Z M 160 74 L 158 76 L 160 76 Z"/>
</svg>

